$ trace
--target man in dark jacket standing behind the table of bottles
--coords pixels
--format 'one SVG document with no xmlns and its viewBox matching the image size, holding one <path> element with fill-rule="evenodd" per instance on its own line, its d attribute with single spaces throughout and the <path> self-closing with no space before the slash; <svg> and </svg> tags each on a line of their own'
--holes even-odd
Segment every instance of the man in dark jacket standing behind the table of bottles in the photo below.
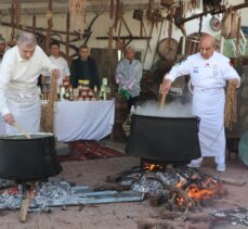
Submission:
<svg viewBox="0 0 248 229">
<path fill-rule="evenodd" d="M 99 71 L 95 60 L 89 56 L 89 48 L 81 46 L 79 48 L 79 58 L 74 60 L 70 64 L 70 84 L 74 88 L 78 87 L 79 79 L 88 79 L 90 88 L 97 90 L 101 88 L 101 79 L 99 77 Z"/>
</svg>

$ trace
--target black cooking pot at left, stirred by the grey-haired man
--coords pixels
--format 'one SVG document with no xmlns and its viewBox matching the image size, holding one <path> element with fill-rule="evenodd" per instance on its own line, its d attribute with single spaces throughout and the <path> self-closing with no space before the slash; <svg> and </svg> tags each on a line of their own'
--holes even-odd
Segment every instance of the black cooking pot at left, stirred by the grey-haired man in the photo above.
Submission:
<svg viewBox="0 0 248 229">
<path fill-rule="evenodd" d="M 16 181 L 44 179 L 62 171 L 52 133 L 0 137 L 0 177 Z"/>
</svg>

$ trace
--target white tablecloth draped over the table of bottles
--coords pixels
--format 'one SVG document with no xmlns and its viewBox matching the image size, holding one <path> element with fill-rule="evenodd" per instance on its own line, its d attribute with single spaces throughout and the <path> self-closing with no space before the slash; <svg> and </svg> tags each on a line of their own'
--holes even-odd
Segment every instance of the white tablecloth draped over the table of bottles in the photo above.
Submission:
<svg viewBox="0 0 248 229">
<path fill-rule="evenodd" d="M 57 141 L 101 140 L 112 132 L 115 100 L 61 101 L 55 107 L 55 136 Z M 5 132 L 0 115 L 0 135 Z"/>
</svg>

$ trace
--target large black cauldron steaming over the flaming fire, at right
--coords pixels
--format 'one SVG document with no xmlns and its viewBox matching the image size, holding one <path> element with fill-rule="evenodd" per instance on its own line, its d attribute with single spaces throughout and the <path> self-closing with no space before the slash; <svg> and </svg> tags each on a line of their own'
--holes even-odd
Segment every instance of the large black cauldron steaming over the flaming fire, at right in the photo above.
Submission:
<svg viewBox="0 0 248 229">
<path fill-rule="evenodd" d="M 132 115 L 126 147 L 130 156 L 158 163 L 186 164 L 200 157 L 199 118 Z"/>
</svg>

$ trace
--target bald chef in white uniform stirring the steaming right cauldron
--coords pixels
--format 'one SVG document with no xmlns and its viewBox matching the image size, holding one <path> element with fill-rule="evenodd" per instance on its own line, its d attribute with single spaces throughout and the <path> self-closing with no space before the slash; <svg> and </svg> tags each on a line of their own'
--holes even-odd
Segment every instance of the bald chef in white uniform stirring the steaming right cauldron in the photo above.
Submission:
<svg viewBox="0 0 248 229">
<path fill-rule="evenodd" d="M 214 156 L 217 170 L 225 170 L 224 104 L 225 81 L 239 87 L 240 78 L 230 60 L 214 51 L 214 38 L 201 37 L 200 52 L 190 55 L 165 76 L 162 92 L 168 93 L 171 82 L 182 75 L 191 75 L 194 90 L 192 113 L 200 117 L 199 143 L 201 157 L 188 166 L 200 167 L 204 156 Z"/>
</svg>

